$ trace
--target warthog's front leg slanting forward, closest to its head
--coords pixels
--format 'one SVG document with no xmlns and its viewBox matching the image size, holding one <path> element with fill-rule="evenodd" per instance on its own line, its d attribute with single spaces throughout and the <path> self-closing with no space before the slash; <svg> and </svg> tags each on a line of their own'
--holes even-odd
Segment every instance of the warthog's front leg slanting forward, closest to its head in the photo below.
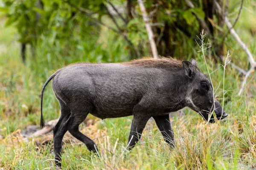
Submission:
<svg viewBox="0 0 256 170">
<path fill-rule="evenodd" d="M 153 118 L 157 124 L 158 129 L 162 133 L 164 140 L 170 145 L 171 148 L 173 148 L 175 144 L 174 133 L 170 123 L 169 114 L 153 116 Z"/>
</svg>

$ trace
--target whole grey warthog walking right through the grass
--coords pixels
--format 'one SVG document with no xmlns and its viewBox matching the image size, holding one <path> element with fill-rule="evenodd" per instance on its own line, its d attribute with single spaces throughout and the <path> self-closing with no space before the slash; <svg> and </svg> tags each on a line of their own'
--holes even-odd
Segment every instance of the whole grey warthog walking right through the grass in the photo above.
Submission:
<svg viewBox="0 0 256 170">
<path fill-rule="evenodd" d="M 94 142 L 79 131 L 89 113 L 105 118 L 133 115 L 128 148 L 140 139 L 149 118 L 153 117 L 165 141 L 173 147 L 174 134 L 169 112 L 189 107 L 214 122 L 227 117 L 214 100 L 212 85 L 195 60 L 140 59 L 127 63 L 75 63 L 56 71 L 41 92 L 41 127 L 44 88 L 52 79 L 52 89 L 61 106 L 61 117 L 53 128 L 55 163 L 61 166 L 61 144 L 69 131 L 90 151 Z M 214 107 L 215 104 L 215 107 Z"/>
</svg>

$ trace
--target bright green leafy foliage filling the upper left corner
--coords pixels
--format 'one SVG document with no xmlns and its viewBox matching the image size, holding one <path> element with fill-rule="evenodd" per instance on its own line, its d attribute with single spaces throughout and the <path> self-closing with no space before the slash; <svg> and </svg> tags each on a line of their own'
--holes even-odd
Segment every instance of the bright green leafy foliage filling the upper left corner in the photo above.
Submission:
<svg viewBox="0 0 256 170">
<path fill-rule="evenodd" d="M 87 6 L 93 9 L 94 18 L 101 18 L 104 12 L 102 0 L 72 1 L 79 7 Z M 63 0 L 3 0 L 8 20 L 6 26 L 13 25 L 19 33 L 22 43 L 35 43 L 47 37 L 50 46 L 65 45 L 70 41 L 77 43 L 84 37 L 85 32 L 99 30 L 98 26 L 91 24 L 90 19 L 81 15 Z"/>
</svg>

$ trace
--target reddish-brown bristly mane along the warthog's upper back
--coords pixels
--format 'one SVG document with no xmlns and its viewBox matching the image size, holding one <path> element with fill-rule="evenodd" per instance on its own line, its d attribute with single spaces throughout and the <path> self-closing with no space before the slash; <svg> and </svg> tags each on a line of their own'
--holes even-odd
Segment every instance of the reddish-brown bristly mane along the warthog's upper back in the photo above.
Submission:
<svg viewBox="0 0 256 170">
<path fill-rule="evenodd" d="M 159 59 L 154 58 L 142 58 L 133 60 L 130 62 L 120 63 L 127 66 L 141 66 L 141 67 L 158 67 L 158 68 L 169 68 L 169 67 L 183 67 L 182 61 L 174 58 L 161 57 Z"/>
</svg>

